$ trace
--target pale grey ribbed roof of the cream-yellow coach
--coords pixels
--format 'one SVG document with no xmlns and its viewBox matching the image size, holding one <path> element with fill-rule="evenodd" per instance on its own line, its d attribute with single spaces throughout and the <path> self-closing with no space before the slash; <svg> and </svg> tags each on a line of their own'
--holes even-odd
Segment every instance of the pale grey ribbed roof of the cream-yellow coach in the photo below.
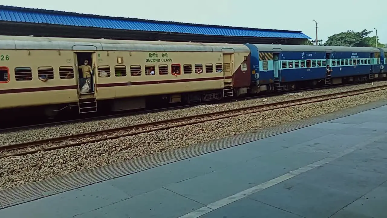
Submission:
<svg viewBox="0 0 387 218">
<path fill-rule="evenodd" d="M 0 36 L 2 49 L 108 50 L 154 52 L 250 52 L 240 44 Z"/>
</svg>

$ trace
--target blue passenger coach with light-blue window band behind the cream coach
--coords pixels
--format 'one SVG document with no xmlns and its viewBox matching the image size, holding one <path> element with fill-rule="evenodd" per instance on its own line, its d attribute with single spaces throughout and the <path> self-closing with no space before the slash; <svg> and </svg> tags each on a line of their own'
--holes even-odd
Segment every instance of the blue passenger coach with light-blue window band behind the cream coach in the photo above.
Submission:
<svg viewBox="0 0 387 218">
<path fill-rule="evenodd" d="M 385 63 L 379 48 L 245 45 L 251 52 L 252 93 L 365 81 L 378 77 Z"/>
</svg>

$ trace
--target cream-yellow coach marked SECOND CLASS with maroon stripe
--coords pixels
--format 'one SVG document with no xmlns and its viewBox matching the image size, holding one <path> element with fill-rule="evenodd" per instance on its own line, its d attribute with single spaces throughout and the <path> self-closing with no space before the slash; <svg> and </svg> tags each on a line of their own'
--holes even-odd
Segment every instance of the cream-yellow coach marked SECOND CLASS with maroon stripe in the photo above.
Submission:
<svg viewBox="0 0 387 218">
<path fill-rule="evenodd" d="M 250 86 L 249 59 L 238 44 L 0 36 L 0 109 L 52 117 L 237 96 Z"/>
</svg>

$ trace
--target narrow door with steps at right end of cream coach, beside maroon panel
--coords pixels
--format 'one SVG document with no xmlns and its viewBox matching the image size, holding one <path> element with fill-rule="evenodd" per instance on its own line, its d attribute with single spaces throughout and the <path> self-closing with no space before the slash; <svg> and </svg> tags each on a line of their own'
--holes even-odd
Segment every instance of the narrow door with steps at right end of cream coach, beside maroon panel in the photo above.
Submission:
<svg viewBox="0 0 387 218">
<path fill-rule="evenodd" d="M 223 54 L 223 97 L 231 97 L 233 92 L 233 55 Z"/>
</svg>

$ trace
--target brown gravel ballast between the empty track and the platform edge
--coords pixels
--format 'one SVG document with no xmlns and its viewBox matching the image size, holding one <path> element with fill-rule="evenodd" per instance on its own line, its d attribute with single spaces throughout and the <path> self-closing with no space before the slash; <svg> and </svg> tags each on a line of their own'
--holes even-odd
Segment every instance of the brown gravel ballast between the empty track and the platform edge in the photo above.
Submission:
<svg viewBox="0 0 387 218">
<path fill-rule="evenodd" d="M 320 94 L 322 93 L 318 95 Z M 325 102 L 274 109 L 170 130 L 144 133 L 133 137 L 121 137 L 79 147 L 38 152 L 27 156 L 11 156 L 0 159 L 0 189 L 16 187 L 75 171 L 96 168 L 148 154 L 228 137 L 251 129 L 267 128 L 281 123 L 318 116 L 367 102 L 382 100 L 386 98 L 385 96 L 386 91 L 382 90 Z M 262 99 L 259 99 L 259 101 L 262 102 Z"/>
</svg>

